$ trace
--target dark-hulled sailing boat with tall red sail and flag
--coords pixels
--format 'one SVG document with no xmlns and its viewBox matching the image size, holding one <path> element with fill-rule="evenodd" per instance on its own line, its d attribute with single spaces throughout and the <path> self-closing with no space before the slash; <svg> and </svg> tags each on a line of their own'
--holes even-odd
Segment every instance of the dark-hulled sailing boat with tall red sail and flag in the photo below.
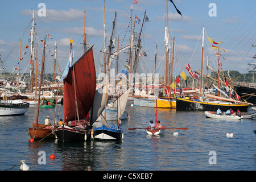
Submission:
<svg viewBox="0 0 256 182">
<path fill-rule="evenodd" d="M 65 125 L 55 130 L 56 137 L 63 142 L 86 140 L 90 137 L 92 125 L 89 120 L 85 120 L 85 117 L 93 106 L 96 90 L 93 49 L 90 48 L 71 66 L 72 52 L 71 43 L 69 62 L 60 80 L 63 80 L 64 84 L 63 121 Z"/>
</svg>

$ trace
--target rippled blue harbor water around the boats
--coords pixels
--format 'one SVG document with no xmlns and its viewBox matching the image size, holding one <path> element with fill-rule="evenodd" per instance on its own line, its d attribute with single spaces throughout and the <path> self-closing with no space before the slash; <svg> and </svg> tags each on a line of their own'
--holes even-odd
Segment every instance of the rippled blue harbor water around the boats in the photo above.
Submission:
<svg viewBox="0 0 256 182">
<path fill-rule="evenodd" d="M 88 166 L 92 171 L 256 169 L 256 119 L 227 121 L 206 118 L 203 111 L 158 109 L 163 126 L 188 130 L 166 129 L 163 135 L 151 136 L 144 129 L 128 129 L 155 121 L 155 108 L 131 104 L 128 101 L 126 107 L 130 119 L 121 123 L 124 138 L 117 142 L 63 143 L 56 139 L 31 143 L 28 127 L 35 119 L 36 106 L 31 105 L 24 115 L 0 117 L 0 170 L 18 171 L 20 160 L 25 160 L 30 171 L 84 171 Z M 54 113 L 55 109 L 40 109 L 39 123 L 44 123 L 47 115 L 52 123 Z M 56 115 L 63 117 L 63 105 L 58 105 Z"/>
</svg>

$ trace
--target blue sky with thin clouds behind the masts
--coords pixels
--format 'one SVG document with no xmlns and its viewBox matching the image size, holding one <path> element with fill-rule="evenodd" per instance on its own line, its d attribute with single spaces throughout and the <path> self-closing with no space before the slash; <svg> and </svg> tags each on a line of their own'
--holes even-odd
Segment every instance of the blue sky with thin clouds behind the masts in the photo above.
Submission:
<svg viewBox="0 0 256 182">
<path fill-rule="evenodd" d="M 106 46 L 109 45 L 109 38 L 112 34 L 115 11 L 117 12 L 117 20 L 113 34 L 115 38 L 114 49 L 116 51 L 117 48 L 129 46 L 131 7 L 133 7 L 133 25 L 135 16 L 141 20 L 139 24 L 135 23 L 134 31 L 142 32 L 141 52 L 144 51 L 147 54 L 147 56 L 140 57 L 141 73 L 154 71 L 157 45 L 156 71 L 163 75 L 166 1 L 138 0 L 138 2 L 140 3 L 133 3 L 133 0 L 105 0 Z M 39 6 L 40 3 L 44 3 L 46 6 L 45 16 L 40 14 L 43 12 L 42 6 Z M 256 44 L 255 1 L 174 0 L 174 3 L 182 14 L 182 16 L 178 14 L 174 5 L 168 1 L 168 32 L 171 47 L 172 39 L 175 38 L 174 76 L 180 75 L 183 71 L 189 75 L 185 69 L 187 64 L 191 66 L 192 71 L 201 68 L 203 26 L 205 27 L 204 67 L 208 57 L 209 65 L 217 70 L 218 56 L 215 55 L 214 51 L 218 52 L 218 49 L 212 48 L 214 44 L 209 43 L 209 37 L 214 42 L 221 42 L 214 46 L 222 48 L 220 49 L 220 61 L 223 71 L 235 70 L 240 73 L 247 73 L 253 70 L 254 67 L 248 63 L 256 63 L 255 59 L 252 58 L 256 54 L 256 47 L 251 46 Z M 211 3 L 214 3 L 214 6 Z M 21 52 L 20 72 L 29 72 L 30 42 L 28 39 L 30 39 L 32 26 L 32 10 L 35 11 L 35 42 L 38 43 L 39 62 L 42 60 L 43 52 L 43 44 L 40 40 L 44 39 L 46 34 L 52 36 L 52 39 L 46 39 L 47 49 L 51 50 L 51 52 L 46 51 L 46 72 L 52 72 L 54 60 L 51 54 L 55 50 L 55 40 L 57 41 L 57 74 L 63 73 L 67 64 L 71 37 L 74 40 L 74 60 L 79 59 L 82 55 L 85 11 L 86 43 L 88 47 L 93 46 L 96 73 L 100 73 L 103 60 L 103 0 L 1 0 L 0 58 L 3 64 L 0 68 L 2 70 L 17 73 L 14 68 L 19 66 L 19 52 Z M 145 11 L 150 21 L 143 23 Z M 37 36 L 40 37 L 37 38 Z M 22 38 L 21 47 L 20 38 Z M 29 48 L 26 49 L 26 46 Z M 127 50 L 125 49 L 119 56 L 119 72 L 129 59 Z M 205 68 L 203 69 L 205 71 Z"/>
</svg>

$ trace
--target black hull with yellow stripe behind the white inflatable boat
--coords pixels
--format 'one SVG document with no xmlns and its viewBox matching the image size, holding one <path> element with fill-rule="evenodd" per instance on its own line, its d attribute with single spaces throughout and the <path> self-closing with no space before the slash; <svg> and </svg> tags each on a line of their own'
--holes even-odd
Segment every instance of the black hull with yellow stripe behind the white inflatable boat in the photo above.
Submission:
<svg viewBox="0 0 256 182">
<path fill-rule="evenodd" d="M 248 105 L 247 104 L 222 104 L 221 102 L 201 102 L 201 101 L 192 101 L 178 98 L 176 100 L 176 111 L 216 111 L 220 107 L 220 110 L 226 111 L 228 109 L 232 109 L 237 111 L 247 112 Z"/>
</svg>

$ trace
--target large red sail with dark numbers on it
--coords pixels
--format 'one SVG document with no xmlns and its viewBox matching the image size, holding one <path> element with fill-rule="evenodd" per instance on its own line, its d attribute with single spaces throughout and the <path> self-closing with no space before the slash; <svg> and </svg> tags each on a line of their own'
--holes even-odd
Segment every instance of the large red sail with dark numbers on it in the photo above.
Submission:
<svg viewBox="0 0 256 182">
<path fill-rule="evenodd" d="M 78 119 L 75 102 L 76 98 L 79 119 L 84 119 L 88 114 L 90 107 L 93 105 L 96 90 L 96 72 L 92 48 L 90 48 L 71 68 L 69 68 L 68 76 L 64 78 L 63 81 L 64 121 L 68 122 Z"/>
</svg>

